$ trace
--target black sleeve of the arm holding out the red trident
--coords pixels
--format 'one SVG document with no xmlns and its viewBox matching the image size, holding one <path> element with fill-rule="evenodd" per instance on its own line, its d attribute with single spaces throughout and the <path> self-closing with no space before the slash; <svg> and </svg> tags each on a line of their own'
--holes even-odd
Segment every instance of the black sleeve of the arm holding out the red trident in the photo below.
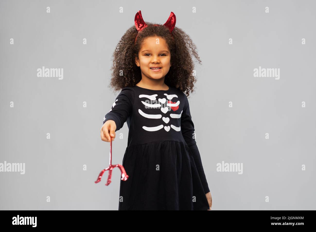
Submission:
<svg viewBox="0 0 316 232">
<path fill-rule="evenodd" d="M 132 88 L 125 87 L 116 97 L 111 110 L 104 116 L 103 124 L 107 120 L 113 120 L 116 124 L 116 130 L 121 129 L 128 116 L 131 115 L 132 105 L 134 104 L 135 93 Z"/>
</svg>

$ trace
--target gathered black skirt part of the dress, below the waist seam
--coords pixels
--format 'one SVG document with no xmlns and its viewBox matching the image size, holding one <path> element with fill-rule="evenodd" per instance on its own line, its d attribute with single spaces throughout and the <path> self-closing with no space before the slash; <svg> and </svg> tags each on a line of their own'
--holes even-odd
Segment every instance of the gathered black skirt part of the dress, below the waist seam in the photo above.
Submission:
<svg viewBox="0 0 316 232">
<path fill-rule="evenodd" d="M 202 182 L 190 151 L 177 141 L 129 146 L 122 165 L 119 210 L 208 210 Z"/>
</svg>

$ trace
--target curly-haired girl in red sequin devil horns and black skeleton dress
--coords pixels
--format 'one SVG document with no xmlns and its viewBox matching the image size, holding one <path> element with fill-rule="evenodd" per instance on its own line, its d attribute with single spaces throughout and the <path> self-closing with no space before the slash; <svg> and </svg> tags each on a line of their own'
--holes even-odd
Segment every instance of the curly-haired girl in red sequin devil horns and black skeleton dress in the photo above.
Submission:
<svg viewBox="0 0 316 232">
<path fill-rule="evenodd" d="M 119 210 L 211 210 L 187 99 L 196 82 L 190 50 L 201 61 L 175 22 L 171 12 L 164 25 L 145 23 L 138 11 L 113 54 L 111 86 L 122 90 L 101 139 L 113 141 L 127 122 Z"/>
</svg>

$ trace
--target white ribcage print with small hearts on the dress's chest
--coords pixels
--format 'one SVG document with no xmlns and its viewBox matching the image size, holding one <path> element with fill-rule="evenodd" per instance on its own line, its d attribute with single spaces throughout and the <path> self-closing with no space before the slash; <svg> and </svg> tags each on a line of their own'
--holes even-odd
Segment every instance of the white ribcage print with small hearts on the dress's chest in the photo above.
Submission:
<svg viewBox="0 0 316 232">
<path fill-rule="evenodd" d="M 167 99 L 168 100 L 171 100 L 172 98 L 178 98 L 178 96 L 176 94 L 170 94 L 168 95 L 167 93 L 165 93 L 164 95 L 166 95 Z M 158 96 L 158 94 L 153 94 L 153 95 L 146 95 L 146 94 L 140 94 L 139 95 L 139 98 L 148 98 L 149 100 L 156 100 L 156 97 Z M 144 101 L 141 101 L 143 103 L 143 105 L 147 106 L 147 107 L 154 107 L 154 108 L 157 108 L 157 107 L 161 107 L 160 110 L 163 114 L 166 114 L 169 110 L 169 107 L 178 107 L 179 104 L 180 104 L 180 101 L 177 101 L 176 103 L 167 103 L 167 106 L 169 107 L 163 107 L 162 104 L 165 104 L 166 101 L 167 101 L 166 98 L 158 98 L 158 101 L 161 103 L 161 104 L 148 104 Z M 179 108 L 179 107 L 178 107 Z M 178 109 L 177 108 L 177 109 Z M 173 108 L 171 108 L 173 110 Z M 151 118 L 151 119 L 160 119 L 162 118 L 162 121 L 165 122 L 165 123 L 168 123 L 170 121 L 170 118 L 169 117 L 163 117 L 161 114 L 146 114 L 144 113 L 141 109 L 138 109 L 138 112 L 141 116 L 145 117 L 145 118 Z M 182 112 L 183 110 L 181 110 L 181 113 L 180 114 L 170 114 L 169 116 L 171 118 L 181 118 L 181 115 L 182 115 Z M 155 126 L 155 127 L 146 127 L 146 126 L 143 126 L 143 129 L 144 130 L 147 130 L 147 131 L 157 131 L 157 130 L 160 130 L 164 128 L 167 132 L 170 131 L 170 128 L 172 128 L 173 130 L 175 131 L 180 131 L 181 130 L 181 127 L 176 127 L 174 125 L 168 125 L 168 126 L 164 126 L 164 125 L 159 125 L 159 126 Z"/>
</svg>

